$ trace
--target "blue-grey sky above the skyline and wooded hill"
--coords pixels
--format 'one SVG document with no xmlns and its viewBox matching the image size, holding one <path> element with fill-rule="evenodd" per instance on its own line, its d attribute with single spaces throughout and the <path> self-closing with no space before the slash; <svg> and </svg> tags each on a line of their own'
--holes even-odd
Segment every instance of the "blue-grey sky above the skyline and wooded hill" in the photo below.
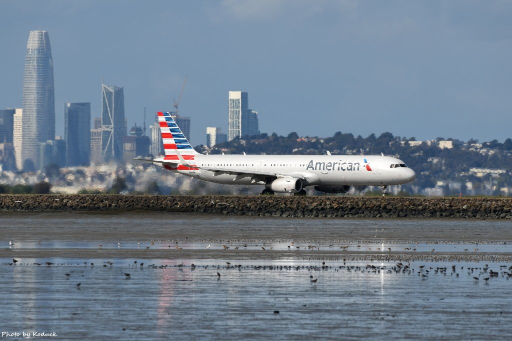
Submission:
<svg viewBox="0 0 512 341">
<path fill-rule="evenodd" d="M 512 137 L 511 1 L 0 2 L 0 108 L 21 107 L 31 30 L 49 32 L 56 133 L 65 102 L 101 112 L 124 87 L 129 126 L 173 110 L 227 133 L 228 92 L 261 132 L 480 142 Z"/>
</svg>

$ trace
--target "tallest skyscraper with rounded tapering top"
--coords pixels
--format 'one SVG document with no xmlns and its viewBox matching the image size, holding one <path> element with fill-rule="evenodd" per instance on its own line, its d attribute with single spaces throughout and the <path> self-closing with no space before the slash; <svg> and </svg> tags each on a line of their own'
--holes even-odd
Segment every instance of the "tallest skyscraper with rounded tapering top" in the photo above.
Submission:
<svg viewBox="0 0 512 341">
<path fill-rule="evenodd" d="M 53 61 L 47 31 L 30 31 L 23 77 L 22 165 L 37 166 L 39 143 L 55 139 Z"/>
</svg>

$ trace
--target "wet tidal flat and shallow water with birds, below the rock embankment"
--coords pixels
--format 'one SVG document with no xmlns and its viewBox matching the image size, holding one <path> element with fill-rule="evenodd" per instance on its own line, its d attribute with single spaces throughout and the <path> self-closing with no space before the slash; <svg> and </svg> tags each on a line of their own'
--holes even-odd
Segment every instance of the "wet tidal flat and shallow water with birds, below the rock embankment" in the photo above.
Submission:
<svg viewBox="0 0 512 341">
<path fill-rule="evenodd" d="M 479 220 L 11 215 L 0 221 L 0 333 L 508 339 L 509 230 Z"/>
</svg>

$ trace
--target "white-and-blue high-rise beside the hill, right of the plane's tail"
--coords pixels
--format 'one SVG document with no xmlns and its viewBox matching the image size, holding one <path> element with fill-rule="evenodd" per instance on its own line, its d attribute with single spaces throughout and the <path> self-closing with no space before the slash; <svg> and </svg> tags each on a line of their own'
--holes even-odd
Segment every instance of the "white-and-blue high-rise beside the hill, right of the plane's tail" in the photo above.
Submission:
<svg viewBox="0 0 512 341">
<path fill-rule="evenodd" d="M 230 91 L 228 99 L 228 141 L 259 135 L 258 112 L 249 109 L 247 93 Z"/>
</svg>

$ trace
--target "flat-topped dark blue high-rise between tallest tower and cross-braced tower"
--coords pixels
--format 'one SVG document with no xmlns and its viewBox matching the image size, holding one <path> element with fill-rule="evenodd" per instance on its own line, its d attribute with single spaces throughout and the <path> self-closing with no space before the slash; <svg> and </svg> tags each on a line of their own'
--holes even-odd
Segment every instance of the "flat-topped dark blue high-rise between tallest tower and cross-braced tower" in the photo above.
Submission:
<svg viewBox="0 0 512 341">
<path fill-rule="evenodd" d="M 88 166 L 91 154 L 91 103 L 64 104 L 64 140 L 68 166 Z"/>
</svg>

